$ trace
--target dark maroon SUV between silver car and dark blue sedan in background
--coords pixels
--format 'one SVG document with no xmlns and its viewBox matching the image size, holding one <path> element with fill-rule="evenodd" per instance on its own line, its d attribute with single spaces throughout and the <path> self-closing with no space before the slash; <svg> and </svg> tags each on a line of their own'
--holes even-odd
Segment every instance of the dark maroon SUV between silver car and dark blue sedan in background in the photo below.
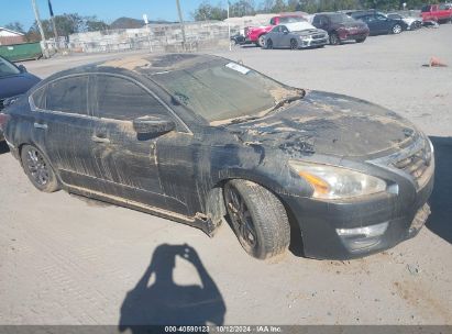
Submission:
<svg viewBox="0 0 452 334">
<path fill-rule="evenodd" d="M 344 41 L 363 43 L 368 35 L 368 27 L 344 13 L 326 12 L 315 14 L 312 25 L 328 32 L 330 44 L 338 45 Z"/>
</svg>

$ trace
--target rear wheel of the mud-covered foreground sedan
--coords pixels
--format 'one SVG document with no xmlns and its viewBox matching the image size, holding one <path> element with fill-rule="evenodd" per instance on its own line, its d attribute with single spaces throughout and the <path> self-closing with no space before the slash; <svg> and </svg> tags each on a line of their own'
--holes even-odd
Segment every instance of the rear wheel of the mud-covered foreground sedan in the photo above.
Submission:
<svg viewBox="0 0 452 334">
<path fill-rule="evenodd" d="M 23 170 L 38 190 L 54 192 L 60 189 L 54 169 L 40 149 L 24 145 L 21 149 L 21 160 Z"/>
</svg>

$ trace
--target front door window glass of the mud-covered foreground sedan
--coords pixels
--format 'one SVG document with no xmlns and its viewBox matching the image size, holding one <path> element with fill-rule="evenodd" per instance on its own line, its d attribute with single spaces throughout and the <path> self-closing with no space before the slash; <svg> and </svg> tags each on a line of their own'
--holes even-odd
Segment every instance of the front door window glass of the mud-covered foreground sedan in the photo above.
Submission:
<svg viewBox="0 0 452 334">
<path fill-rule="evenodd" d="M 168 110 L 137 84 L 113 76 L 97 76 L 95 115 L 132 121 L 145 115 L 168 116 Z"/>
</svg>

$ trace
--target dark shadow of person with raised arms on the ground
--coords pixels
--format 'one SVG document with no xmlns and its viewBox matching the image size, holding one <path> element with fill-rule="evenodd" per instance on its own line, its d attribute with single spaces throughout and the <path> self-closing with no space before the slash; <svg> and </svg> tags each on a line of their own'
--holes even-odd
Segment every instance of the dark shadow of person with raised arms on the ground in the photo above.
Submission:
<svg viewBox="0 0 452 334">
<path fill-rule="evenodd" d="M 201 285 L 179 286 L 173 280 L 176 257 L 195 266 Z M 153 281 L 148 286 L 150 280 Z M 140 325 L 221 325 L 225 304 L 220 290 L 188 245 L 159 245 L 143 277 L 121 307 L 119 330 L 140 331 Z M 135 331 L 136 330 L 136 331 Z"/>
</svg>

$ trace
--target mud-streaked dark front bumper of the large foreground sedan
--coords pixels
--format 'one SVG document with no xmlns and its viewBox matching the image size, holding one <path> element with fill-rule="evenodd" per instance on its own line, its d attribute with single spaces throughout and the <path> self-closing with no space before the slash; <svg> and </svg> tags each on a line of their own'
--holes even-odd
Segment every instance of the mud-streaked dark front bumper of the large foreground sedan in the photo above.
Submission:
<svg viewBox="0 0 452 334">
<path fill-rule="evenodd" d="M 434 169 L 434 168 L 433 168 Z M 305 256 L 321 259 L 349 259 L 371 255 L 394 247 L 411 238 L 426 222 L 430 209 L 427 201 L 433 189 L 434 172 L 414 196 L 404 193 L 366 197 L 344 201 L 321 201 L 284 197 L 302 236 Z M 363 248 L 351 247 L 338 231 L 386 225 L 373 243 Z"/>
</svg>

